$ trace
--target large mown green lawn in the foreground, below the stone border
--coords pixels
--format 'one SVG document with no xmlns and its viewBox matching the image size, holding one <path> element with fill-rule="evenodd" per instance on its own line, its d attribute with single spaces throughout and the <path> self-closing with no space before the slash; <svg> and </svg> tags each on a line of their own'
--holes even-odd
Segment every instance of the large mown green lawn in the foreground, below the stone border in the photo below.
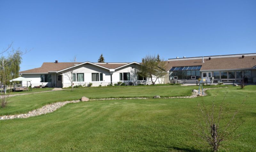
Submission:
<svg viewBox="0 0 256 152">
<path fill-rule="evenodd" d="M 215 101 L 218 105 L 227 90 L 225 104 L 229 105 L 225 109 L 231 111 L 250 95 L 236 116 L 235 122 L 243 122 L 236 138 L 224 142 L 220 150 L 255 151 L 256 86 L 209 90 L 208 96 L 193 99 L 71 103 L 50 114 L 0 121 L 0 151 L 205 151 L 199 144 L 202 141 L 191 131 L 197 101 L 203 98 L 210 106 L 213 95 L 219 92 Z M 230 116 L 227 113 L 223 121 Z"/>
</svg>

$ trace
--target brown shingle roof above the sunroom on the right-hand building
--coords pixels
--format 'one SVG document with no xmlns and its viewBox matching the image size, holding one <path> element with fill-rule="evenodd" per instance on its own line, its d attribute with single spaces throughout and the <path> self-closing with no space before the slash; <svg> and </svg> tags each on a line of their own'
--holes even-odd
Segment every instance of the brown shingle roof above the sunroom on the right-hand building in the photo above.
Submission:
<svg viewBox="0 0 256 152">
<path fill-rule="evenodd" d="M 254 58 L 254 59 L 253 59 Z M 245 56 L 242 57 L 227 57 L 227 58 L 208 58 L 197 60 L 176 60 L 166 61 L 166 70 L 170 70 L 172 67 L 181 66 L 198 66 L 201 65 L 200 70 L 221 70 L 221 69 L 241 69 L 241 68 L 253 68 L 256 66 L 256 56 Z"/>
</svg>

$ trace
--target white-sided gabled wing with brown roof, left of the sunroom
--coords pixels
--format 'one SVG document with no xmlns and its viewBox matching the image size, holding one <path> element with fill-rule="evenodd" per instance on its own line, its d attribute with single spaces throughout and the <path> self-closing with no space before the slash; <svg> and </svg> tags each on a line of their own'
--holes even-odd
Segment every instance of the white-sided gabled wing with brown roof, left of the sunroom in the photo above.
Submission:
<svg viewBox="0 0 256 152">
<path fill-rule="evenodd" d="M 31 79 L 32 87 L 47 85 L 48 87 L 71 86 L 71 73 L 73 84 L 87 86 L 106 86 L 123 82 L 128 85 L 151 84 L 149 78 L 139 75 L 140 63 L 92 63 L 92 62 L 44 62 L 40 68 L 19 72 L 23 77 Z M 156 79 L 155 79 L 156 80 Z M 156 84 L 163 84 L 165 77 L 159 78 Z M 167 77 L 168 81 L 168 77 Z M 169 81 L 168 81 L 169 82 Z M 168 83 L 166 82 L 166 83 Z M 27 83 L 24 82 L 24 86 Z"/>
</svg>

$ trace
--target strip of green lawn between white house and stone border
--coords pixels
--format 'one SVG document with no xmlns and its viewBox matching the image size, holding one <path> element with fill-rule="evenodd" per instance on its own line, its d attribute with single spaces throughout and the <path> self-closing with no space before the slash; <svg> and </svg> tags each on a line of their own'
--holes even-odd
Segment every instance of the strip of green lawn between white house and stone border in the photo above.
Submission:
<svg viewBox="0 0 256 152">
<path fill-rule="evenodd" d="M 78 100 L 82 96 L 87 98 L 125 98 L 125 97 L 161 97 L 187 96 L 191 95 L 195 86 L 183 87 L 179 85 L 169 85 L 162 87 L 105 87 L 71 90 L 62 90 L 55 92 L 42 92 L 37 94 L 28 94 L 10 98 L 6 108 L 0 108 L 0 116 L 26 113 L 30 110 L 41 108 L 42 106 L 58 101 Z"/>
</svg>

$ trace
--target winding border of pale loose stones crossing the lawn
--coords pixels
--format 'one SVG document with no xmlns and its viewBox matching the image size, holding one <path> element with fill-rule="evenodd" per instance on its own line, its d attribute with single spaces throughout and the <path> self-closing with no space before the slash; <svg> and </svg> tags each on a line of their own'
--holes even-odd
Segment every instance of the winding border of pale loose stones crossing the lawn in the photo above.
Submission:
<svg viewBox="0 0 256 152">
<path fill-rule="evenodd" d="M 219 87 L 219 88 L 222 88 L 222 87 Z M 206 88 L 206 89 L 203 89 L 204 95 L 200 95 L 200 96 L 206 96 L 207 94 L 205 93 L 205 91 L 206 90 L 211 90 L 211 89 L 218 89 L 218 88 Z M 197 96 L 198 96 L 198 93 L 197 92 L 193 92 L 191 96 L 185 96 L 185 97 L 163 97 L 161 99 L 196 98 Z M 97 101 L 97 100 L 130 100 L 130 99 L 151 99 L 151 98 L 144 98 L 144 97 L 137 97 L 137 98 L 101 98 L 101 99 L 90 99 L 90 101 Z M 66 105 L 67 103 L 77 103 L 77 102 L 80 102 L 80 100 L 55 102 L 55 103 L 52 103 L 52 104 L 45 105 L 42 108 L 29 111 L 27 114 L 0 116 L 0 120 L 14 119 L 14 118 L 28 118 L 28 117 L 31 117 L 31 116 L 44 115 L 44 114 L 51 113 L 51 112 L 59 109 L 60 107 Z"/>
</svg>

